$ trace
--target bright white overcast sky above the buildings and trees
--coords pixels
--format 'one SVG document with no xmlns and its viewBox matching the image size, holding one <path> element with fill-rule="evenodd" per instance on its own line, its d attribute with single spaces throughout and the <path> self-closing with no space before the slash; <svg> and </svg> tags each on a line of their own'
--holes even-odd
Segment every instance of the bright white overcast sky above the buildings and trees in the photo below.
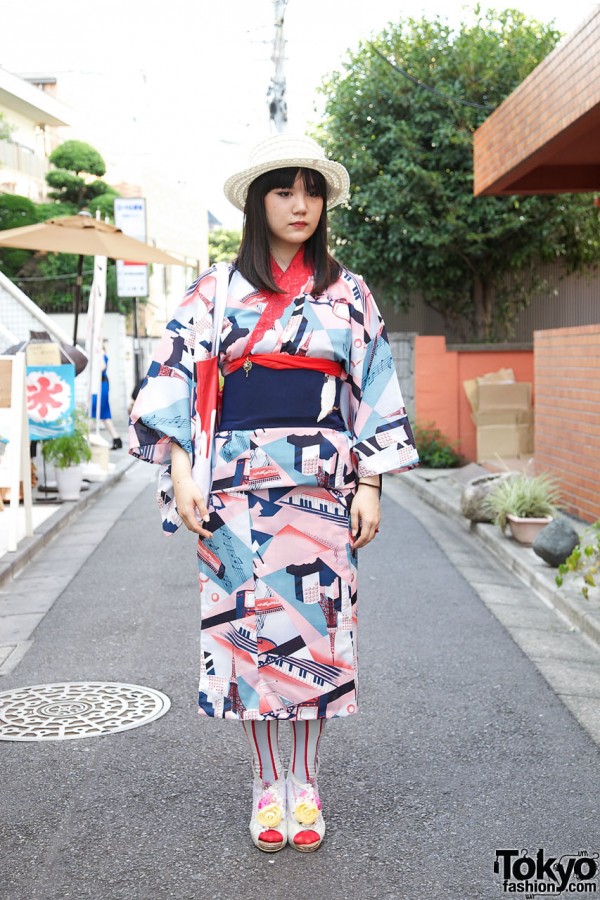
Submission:
<svg viewBox="0 0 600 900">
<path fill-rule="evenodd" d="M 485 3 L 481 4 L 484 8 Z M 572 31 L 594 0 L 514 0 L 532 18 Z M 316 89 L 347 50 L 404 16 L 456 23 L 450 0 L 288 0 L 285 13 L 288 130 L 318 120 Z M 227 227 L 240 214 L 222 195 L 247 148 L 271 132 L 266 94 L 272 0 L 3 0 L 0 66 L 54 75 L 72 110 L 70 137 L 104 156 L 113 183 L 163 172 L 198 186 Z"/>
</svg>

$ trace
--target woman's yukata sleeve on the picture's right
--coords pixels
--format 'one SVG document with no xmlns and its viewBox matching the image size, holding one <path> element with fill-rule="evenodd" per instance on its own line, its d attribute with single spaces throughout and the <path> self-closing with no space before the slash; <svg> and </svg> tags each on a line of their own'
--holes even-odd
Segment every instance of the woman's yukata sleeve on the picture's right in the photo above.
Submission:
<svg viewBox="0 0 600 900">
<path fill-rule="evenodd" d="M 366 284 L 356 279 L 355 287 L 348 373 L 354 468 L 359 478 L 404 472 L 419 457 L 387 331 Z"/>
</svg>

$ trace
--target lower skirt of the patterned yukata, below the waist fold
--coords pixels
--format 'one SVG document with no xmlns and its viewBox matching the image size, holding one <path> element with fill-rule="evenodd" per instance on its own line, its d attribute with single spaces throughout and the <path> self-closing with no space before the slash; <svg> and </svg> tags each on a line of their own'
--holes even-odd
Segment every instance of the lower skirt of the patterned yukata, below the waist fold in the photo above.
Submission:
<svg viewBox="0 0 600 900">
<path fill-rule="evenodd" d="M 198 543 L 200 711 L 306 719 L 356 711 L 356 564 L 349 491 L 211 497 Z"/>
</svg>

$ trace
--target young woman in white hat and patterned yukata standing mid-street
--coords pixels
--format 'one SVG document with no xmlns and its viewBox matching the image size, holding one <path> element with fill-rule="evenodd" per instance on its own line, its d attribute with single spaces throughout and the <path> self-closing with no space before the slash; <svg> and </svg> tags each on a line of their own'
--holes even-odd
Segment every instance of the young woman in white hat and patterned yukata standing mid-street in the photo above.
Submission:
<svg viewBox="0 0 600 900">
<path fill-rule="evenodd" d="M 357 551 L 377 534 L 382 473 L 417 464 L 381 316 L 327 250 L 327 209 L 348 188 L 343 166 L 287 134 L 225 184 L 245 225 L 218 352 L 210 496 L 193 471 L 205 440 L 194 367 L 212 351 L 214 267 L 167 326 L 131 417 L 130 452 L 170 466 L 164 527 L 182 520 L 199 538 L 200 712 L 242 723 L 250 832 L 267 852 L 323 840 L 321 736 L 357 711 Z M 281 720 L 293 730 L 287 778 Z"/>
</svg>

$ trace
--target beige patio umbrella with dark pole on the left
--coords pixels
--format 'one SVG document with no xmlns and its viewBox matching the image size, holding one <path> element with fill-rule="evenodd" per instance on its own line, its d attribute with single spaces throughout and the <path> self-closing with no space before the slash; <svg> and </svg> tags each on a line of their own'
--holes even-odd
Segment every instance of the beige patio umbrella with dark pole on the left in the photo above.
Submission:
<svg viewBox="0 0 600 900">
<path fill-rule="evenodd" d="M 185 263 L 135 238 L 124 234 L 120 228 L 94 219 L 86 213 L 48 219 L 37 225 L 8 228 L 0 231 L 0 247 L 18 247 L 21 250 L 38 250 L 44 253 L 77 253 L 77 280 L 73 304 L 75 323 L 73 343 L 77 341 L 77 319 L 81 305 L 81 282 L 84 256 L 108 256 L 135 263 L 161 263 L 165 266 L 184 266 Z"/>
</svg>

